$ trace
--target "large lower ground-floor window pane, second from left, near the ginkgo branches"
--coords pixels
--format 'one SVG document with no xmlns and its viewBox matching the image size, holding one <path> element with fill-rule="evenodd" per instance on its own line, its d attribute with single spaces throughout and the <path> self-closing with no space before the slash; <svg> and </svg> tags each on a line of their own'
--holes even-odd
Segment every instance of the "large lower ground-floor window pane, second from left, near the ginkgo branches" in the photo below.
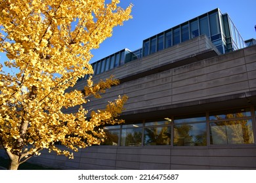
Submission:
<svg viewBox="0 0 256 183">
<path fill-rule="evenodd" d="M 122 129 L 121 146 L 141 146 L 142 128 Z"/>
</svg>

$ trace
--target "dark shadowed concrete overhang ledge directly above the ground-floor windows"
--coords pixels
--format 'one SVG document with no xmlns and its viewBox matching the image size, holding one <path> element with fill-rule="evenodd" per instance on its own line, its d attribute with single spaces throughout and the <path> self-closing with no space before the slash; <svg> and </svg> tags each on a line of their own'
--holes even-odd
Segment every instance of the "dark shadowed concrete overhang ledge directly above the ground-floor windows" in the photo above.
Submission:
<svg viewBox="0 0 256 183">
<path fill-rule="evenodd" d="M 234 106 L 256 105 L 256 90 L 251 92 L 236 93 L 222 97 L 213 97 L 161 107 L 152 107 L 141 110 L 123 112 L 121 119 L 127 122 L 136 120 L 150 120 L 152 118 L 163 118 L 179 114 L 204 112 L 206 110 L 221 110 L 221 108 L 232 108 Z"/>
</svg>

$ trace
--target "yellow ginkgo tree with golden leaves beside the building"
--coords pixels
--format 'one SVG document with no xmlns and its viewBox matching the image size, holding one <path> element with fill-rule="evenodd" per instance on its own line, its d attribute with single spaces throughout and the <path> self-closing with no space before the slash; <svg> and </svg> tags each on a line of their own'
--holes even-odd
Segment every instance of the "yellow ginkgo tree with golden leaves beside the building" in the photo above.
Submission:
<svg viewBox="0 0 256 183">
<path fill-rule="evenodd" d="M 91 77 L 83 91 L 67 88 L 93 75 L 91 50 L 112 36 L 113 27 L 131 18 L 112 0 L 0 0 L 0 142 L 11 159 L 9 169 L 44 148 L 73 158 L 72 151 L 100 144 L 100 125 L 116 124 L 127 97 L 117 97 L 102 110 L 83 104 L 89 96 L 118 83 Z M 5 73 L 5 67 L 14 73 Z M 73 114 L 65 108 L 79 107 Z M 61 150 L 56 146 L 66 146 Z"/>
</svg>

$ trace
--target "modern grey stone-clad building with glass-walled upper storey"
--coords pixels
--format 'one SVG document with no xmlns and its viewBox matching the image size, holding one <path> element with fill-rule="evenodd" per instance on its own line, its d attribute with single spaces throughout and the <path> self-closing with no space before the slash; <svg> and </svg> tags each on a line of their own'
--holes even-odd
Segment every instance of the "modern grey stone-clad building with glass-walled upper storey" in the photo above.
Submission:
<svg viewBox="0 0 256 183">
<path fill-rule="evenodd" d="M 100 146 L 75 159 L 43 152 L 32 163 L 60 169 L 256 169 L 256 46 L 219 9 L 93 63 L 94 81 L 120 84 L 86 108 L 129 97 Z M 87 76 L 85 76 L 87 78 Z M 81 78 L 71 90 L 83 90 Z M 71 108 L 66 112 L 74 112 Z"/>
</svg>

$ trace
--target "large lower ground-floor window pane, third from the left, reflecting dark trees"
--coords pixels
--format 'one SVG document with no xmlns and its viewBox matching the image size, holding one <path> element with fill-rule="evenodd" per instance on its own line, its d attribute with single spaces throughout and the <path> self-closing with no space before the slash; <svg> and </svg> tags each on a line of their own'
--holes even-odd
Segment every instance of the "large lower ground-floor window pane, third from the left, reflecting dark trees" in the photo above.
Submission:
<svg viewBox="0 0 256 183">
<path fill-rule="evenodd" d="M 144 145 L 171 145 L 171 127 L 148 127 L 144 129 Z"/>
</svg>

